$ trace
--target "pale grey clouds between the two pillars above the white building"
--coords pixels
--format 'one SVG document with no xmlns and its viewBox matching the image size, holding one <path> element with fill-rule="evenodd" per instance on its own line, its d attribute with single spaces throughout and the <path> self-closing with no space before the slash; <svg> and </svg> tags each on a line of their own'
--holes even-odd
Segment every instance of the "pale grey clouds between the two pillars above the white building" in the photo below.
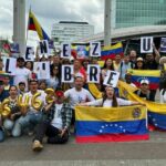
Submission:
<svg viewBox="0 0 166 166">
<path fill-rule="evenodd" d="M 58 21 L 87 21 L 91 24 L 97 24 L 104 11 L 104 1 L 101 0 L 42 0 L 38 3 L 39 0 L 29 0 L 27 7 L 32 7 L 32 10 L 35 12 L 39 19 L 45 24 L 48 23 L 48 30 L 51 31 L 53 23 Z M 93 20 L 95 18 L 95 20 Z M 98 20 L 97 20 L 98 18 Z M 104 24 L 104 23 L 103 23 Z M 101 25 L 96 25 L 95 32 L 103 31 Z"/>
</svg>

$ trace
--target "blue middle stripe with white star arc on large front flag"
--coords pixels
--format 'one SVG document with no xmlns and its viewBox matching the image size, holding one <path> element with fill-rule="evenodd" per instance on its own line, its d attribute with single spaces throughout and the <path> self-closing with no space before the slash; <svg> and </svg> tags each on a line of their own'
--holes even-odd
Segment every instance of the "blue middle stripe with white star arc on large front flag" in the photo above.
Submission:
<svg viewBox="0 0 166 166">
<path fill-rule="evenodd" d="M 77 121 L 77 136 L 91 136 L 100 134 L 145 134 L 147 133 L 146 120 L 126 122 L 96 122 Z"/>
</svg>

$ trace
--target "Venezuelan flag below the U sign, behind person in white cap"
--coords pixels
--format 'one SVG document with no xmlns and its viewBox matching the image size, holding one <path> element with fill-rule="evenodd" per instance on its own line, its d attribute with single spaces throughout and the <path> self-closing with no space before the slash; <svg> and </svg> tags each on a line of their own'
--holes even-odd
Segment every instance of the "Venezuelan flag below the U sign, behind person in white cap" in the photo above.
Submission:
<svg viewBox="0 0 166 166">
<path fill-rule="evenodd" d="M 149 81 L 149 89 L 157 90 L 159 86 L 160 71 L 159 70 L 128 70 L 132 74 L 132 82 L 136 85 L 141 85 L 143 79 Z"/>
</svg>

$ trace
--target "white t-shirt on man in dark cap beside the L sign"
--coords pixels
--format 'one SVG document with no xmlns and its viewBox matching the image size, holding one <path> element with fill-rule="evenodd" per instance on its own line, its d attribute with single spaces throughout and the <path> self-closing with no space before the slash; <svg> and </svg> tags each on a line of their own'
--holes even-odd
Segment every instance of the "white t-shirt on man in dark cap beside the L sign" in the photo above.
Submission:
<svg viewBox="0 0 166 166">
<path fill-rule="evenodd" d="M 20 82 L 25 83 L 25 91 L 28 91 L 28 79 L 31 79 L 31 71 L 27 68 L 17 68 L 13 77 L 13 84 L 18 86 Z"/>
</svg>

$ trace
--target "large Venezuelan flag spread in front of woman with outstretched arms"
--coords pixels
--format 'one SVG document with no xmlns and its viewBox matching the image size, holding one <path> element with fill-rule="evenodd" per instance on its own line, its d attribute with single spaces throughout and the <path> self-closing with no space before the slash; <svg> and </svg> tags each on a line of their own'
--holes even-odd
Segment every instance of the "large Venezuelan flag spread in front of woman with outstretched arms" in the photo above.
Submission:
<svg viewBox="0 0 166 166">
<path fill-rule="evenodd" d="M 146 107 L 75 107 L 76 142 L 148 139 Z"/>
</svg>

